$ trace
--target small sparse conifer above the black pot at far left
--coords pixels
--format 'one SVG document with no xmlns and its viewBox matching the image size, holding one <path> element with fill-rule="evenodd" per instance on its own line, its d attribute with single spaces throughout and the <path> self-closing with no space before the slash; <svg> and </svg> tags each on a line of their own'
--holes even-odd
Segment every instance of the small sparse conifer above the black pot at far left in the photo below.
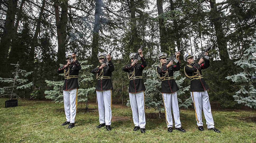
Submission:
<svg viewBox="0 0 256 143">
<path fill-rule="evenodd" d="M 28 82 L 26 78 L 28 75 L 30 75 L 33 71 L 27 72 L 26 70 L 20 69 L 19 62 L 17 64 L 11 64 L 16 69 L 12 72 L 13 78 L 1 78 L 1 83 L 7 83 L 9 86 L 4 86 L 3 88 L 0 88 L 0 94 L 2 96 L 10 96 L 10 98 L 19 98 L 19 95 L 17 92 L 21 89 L 31 89 L 33 87 L 33 82 Z"/>
</svg>

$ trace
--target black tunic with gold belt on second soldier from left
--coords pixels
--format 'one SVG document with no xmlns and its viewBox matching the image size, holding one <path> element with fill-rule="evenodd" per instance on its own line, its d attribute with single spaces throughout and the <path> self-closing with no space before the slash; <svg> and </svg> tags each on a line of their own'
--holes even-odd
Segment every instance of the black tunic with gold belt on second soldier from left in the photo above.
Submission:
<svg viewBox="0 0 256 143">
<path fill-rule="evenodd" d="M 115 70 L 115 67 L 111 60 L 108 63 L 109 64 L 101 70 L 99 69 L 100 66 L 98 66 L 91 71 L 91 73 L 96 74 L 96 91 L 113 89 L 111 76 L 112 72 Z"/>
</svg>

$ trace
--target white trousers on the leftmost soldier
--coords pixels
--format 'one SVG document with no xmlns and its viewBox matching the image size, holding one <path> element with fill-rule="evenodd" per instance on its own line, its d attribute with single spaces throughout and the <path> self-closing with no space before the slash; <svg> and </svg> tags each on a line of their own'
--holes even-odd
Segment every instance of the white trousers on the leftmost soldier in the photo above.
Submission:
<svg viewBox="0 0 256 143">
<path fill-rule="evenodd" d="M 70 123 L 75 123 L 76 120 L 77 90 L 63 90 L 65 115 L 67 121 Z"/>
</svg>

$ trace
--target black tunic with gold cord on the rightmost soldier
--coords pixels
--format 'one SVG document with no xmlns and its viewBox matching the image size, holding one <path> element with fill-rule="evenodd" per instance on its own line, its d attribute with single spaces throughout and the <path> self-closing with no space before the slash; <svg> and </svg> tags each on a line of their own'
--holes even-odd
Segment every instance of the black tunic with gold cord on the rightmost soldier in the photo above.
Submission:
<svg viewBox="0 0 256 143">
<path fill-rule="evenodd" d="M 186 65 L 184 67 L 185 72 L 188 76 L 195 76 L 194 78 L 190 78 L 190 91 L 206 91 L 209 89 L 209 86 L 205 83 L 204 78 L 202 76 L 202 69 L 207 69 L 210 66 L 210 61 L 205 59 L 204 64 L 196 63 L 193 67 L 190 65 Z"/>
</svg>

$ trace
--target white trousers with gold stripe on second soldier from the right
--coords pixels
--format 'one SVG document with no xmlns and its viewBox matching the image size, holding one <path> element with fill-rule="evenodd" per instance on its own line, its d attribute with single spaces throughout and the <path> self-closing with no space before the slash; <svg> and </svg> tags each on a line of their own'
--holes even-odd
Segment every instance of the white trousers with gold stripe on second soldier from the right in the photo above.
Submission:
<svg viewBox="0 0 256 143">
<path fill-rule="evenodd" d="M 174 93 L 162 93 L 163 101 L 164 101 L 164 109 L 165 109 L 165 119 L 167 123 L 167 127 L 172 127 L 172 112 L 175 121 L 175 127 L 181 127 L 180 122 L 180 111 L 178 105 L 177 92 Z M 172 108 L 172 111 L 171 111 Z"/>
</svg>

